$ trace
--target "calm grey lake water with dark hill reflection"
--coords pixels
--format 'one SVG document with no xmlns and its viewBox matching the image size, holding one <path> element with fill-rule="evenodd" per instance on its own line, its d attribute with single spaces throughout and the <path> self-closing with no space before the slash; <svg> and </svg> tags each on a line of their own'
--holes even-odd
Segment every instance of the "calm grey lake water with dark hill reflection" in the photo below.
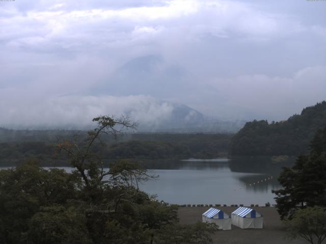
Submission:
<svg viewBox="0 0 326 244">
<path fill-rule="evenodd" d="M 174 204 L 274 204 L 271 190 L 280 189 L 277 177 L 283 166 L 292 163 L 275 163 L 270 157 L 144 161 L 149 172 L 159 177 L 140 188 Z"/>
</svg>

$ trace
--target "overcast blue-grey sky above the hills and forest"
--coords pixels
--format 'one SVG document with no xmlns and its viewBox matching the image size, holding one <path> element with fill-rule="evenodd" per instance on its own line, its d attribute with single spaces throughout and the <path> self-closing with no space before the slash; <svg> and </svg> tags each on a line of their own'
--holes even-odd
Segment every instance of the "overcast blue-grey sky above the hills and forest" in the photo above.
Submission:
<svg viewBox="0 0 326 244">
<path fill-rule="evenodd" d="M 161 101 L 223 119 L 286 119 L 326 99 L 325 12 L 326 2 L 306 0 L 0 1 L 0 127 L 130 109 L 145 121 L 171 113 Z M 112 80 L 149 55 L 160 60 L 150 77 L 177 73 L 173 82 Z"/>
</svg>

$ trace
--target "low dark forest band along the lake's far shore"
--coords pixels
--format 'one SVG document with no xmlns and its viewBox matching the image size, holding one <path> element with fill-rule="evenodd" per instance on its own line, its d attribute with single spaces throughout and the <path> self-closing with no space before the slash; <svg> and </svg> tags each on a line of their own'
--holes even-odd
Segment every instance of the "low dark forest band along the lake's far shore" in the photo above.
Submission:
<svg viewBox="0 0 326 244">
<path fill-rule="evenodd" d="M 1 130 L 0 130 L 1 131 Z M 14 134 L 5 131 L 6 136 Z M 9 132 L 8 132 L 9 131 Z M 46 137 L 44 132 L 16 132 L 9 142 L 0 143 L 0 165 L 10 166 L 24 162 L 26 158 L 39 159 L 43 166 L 68 166 L 68 158 L 56 155 L 53 145 L 55 132 L 51 131 Z M 29 136 L 26 136 L 28 133 Z M 73 140 L 83 132 L 68 134 L 57 131 L 58 138 Z M 30 138 L 30 139 L 28 139 Z M 39 140 L 40 141 L 39 141 Z M 86 139 L 86 138 L 84 138 Z M 26 140 L 26 141 L 25 141 Z M 113 141 L 110 137 L 103 137 L 101 142 L 93 144 L 94 153 L 105 160 L 115 159 L 187 159 L 187 158 L 216 158 L 226 157 L 231 135 L 224 134 L 127 134 L 122 139 Z"/>
</svg>

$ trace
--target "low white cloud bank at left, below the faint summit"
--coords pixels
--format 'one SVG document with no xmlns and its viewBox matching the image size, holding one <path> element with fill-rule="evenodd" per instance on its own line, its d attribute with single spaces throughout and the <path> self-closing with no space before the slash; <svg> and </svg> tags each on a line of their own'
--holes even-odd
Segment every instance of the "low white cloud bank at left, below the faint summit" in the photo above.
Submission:
<svg viewBox="0 0 326 244">
<path fill-rule="evenodd" d="M 0 125 L 7 128 L 89 128 L 93 126 L 92 118 L 98 115 L 129 115 L 141 126 L 155 125 L 168 119 L 173 111 L 170 103 L 149 96 L 31 98 L 14 89 L 0 89 L 0 95 Z"/>
</svg>

